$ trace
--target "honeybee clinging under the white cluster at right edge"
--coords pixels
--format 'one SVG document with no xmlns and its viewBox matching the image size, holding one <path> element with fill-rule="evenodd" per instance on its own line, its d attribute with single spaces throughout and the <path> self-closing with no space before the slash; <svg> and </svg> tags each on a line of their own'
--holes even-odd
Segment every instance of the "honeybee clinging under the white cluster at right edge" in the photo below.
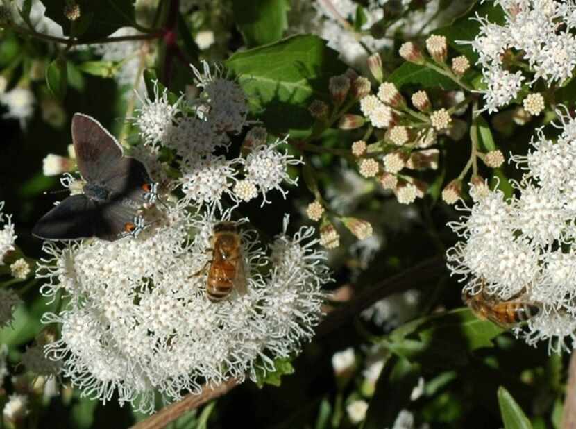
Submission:
<svg viewBox="0 0 576 429">
<path fill-rule="evenodd" d="M 532 319 L 542 310 L 540 303 L 525 301 L 521 299 L 521 294 L 523 291 L 507 301 L 501 301 L 495 296 L 486 294 L 486 291 L 482 289 L 477 294 L 471 294 L 470 291 L 462 292 L 462 301 L 468 305 L 476 317 L 488 319 L 500 328 L 509 329 L 518 323 Z"/>
</svg>

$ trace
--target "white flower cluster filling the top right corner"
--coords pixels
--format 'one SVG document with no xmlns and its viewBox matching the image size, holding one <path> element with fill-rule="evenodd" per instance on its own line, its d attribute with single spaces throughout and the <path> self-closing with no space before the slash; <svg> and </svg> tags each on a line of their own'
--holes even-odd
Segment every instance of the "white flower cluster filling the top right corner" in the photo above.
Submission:
<svg viewBox="0 0 576 429">
<path fill-rule="evenodd" d="M 570 78 L 576 66 L 576 29 L 573 1 L 495 0 L 505 10 L 505 24 L 476 17 L 480 33 L 470 43 L 482 66 L 486 84 L 485 109 L 497 112 L 518 96 L 520 87 L 539 78 L 548 86 Z M 530 76 L 511 70 L 507 56 L 530 67 Z"/>
</svg>

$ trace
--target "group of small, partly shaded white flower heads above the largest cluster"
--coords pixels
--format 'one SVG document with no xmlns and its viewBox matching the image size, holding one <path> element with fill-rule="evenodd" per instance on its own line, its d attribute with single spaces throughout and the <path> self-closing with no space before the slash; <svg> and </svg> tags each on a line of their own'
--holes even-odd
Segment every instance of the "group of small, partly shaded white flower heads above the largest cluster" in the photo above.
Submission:
<svg viewBox="0 0 576 429">
<path fill-rule="evenodd" d="M 288 167 L 302 162 L 280 150 L 286 139 L 266 144 L 264 138 L 255 141 L 246 156 L 227 158 L 224 153 L 230 148 L 228 133 L 237 134 L 248 124 L 246 95 L 220 69 L 212 74 L 206 62 L 203 73 L 197 69 L 194 72 L 201 92 L 190 106 L 182 97 L 170 101 L 167 91 L 160 93 L 156 86 L 154 99 L 142 100 L 142 107 L 133 118 L 147 145 L 176 153 L 180 177 L 172 187 L 180 187 L 185 204 L 219 209 L 224 196 L 238 203 L 262 194 L 262 205 L 269 202 L 266 194 L 271 190 L 286 196 L 282 185 L 297 183 L 289 176 Z M 190 108 L 195 115 L 184 115 Z"/>
</svg>

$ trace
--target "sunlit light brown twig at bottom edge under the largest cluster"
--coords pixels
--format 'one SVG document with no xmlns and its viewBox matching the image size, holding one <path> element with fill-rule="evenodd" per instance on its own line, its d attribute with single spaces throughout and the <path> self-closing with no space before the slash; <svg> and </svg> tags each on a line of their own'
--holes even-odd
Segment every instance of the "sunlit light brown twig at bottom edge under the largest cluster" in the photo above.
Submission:
<svg viewBox="0 0 576 429">
<path fill-rule="evenodd" d="M 223 382 L 221 385 L 216 387 L 204 385 L 201 394 L 187 394 L 182 400 L 170 404 L 167 407 L 162 408 L 162 410 L 158 411 L 156 414 L 151 415 L 148 419 L 136 423 L 132 426 L 132 429 L 164 428 L 168 423 L 178 419 L 178 417 L 185 412 L 195 410 L 208 401 L 212 401 L 212 399 L 230 392 L 230 390 L 234 389 L 237 385 L 238 380 L 236 378 L 230 378 L 230 380 Z"/>
</svg>

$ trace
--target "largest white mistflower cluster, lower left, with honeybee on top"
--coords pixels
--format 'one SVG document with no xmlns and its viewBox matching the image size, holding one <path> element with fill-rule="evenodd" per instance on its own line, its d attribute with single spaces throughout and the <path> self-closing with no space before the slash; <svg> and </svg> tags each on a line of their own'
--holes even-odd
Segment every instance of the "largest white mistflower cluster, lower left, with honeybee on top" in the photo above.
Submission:
<svg viewBox="0 0 576 429">
<path fill-rule="evenodd" d="M 142 412 L 153 411 L 155 392 L 176 401 L 200 393 L 204 382 L 273 371 L 274 360 L 314 335 L 329 280 L 312 228 L 290 237 L 285 223 L 266 255 L 255 231 L 238 222 L 246 287 L 212 302 L 212 231 L 230 213 L 214 219 L 164 210 L 137 239 L 47 242 L 51 258 L 37 272 L 49 280 L 43 294 L 69 296 L 58 314 L 44 314 L 61 331 L 46 356 L 83 394 L 103 402 L 115 394 Z"/>
</svg>

